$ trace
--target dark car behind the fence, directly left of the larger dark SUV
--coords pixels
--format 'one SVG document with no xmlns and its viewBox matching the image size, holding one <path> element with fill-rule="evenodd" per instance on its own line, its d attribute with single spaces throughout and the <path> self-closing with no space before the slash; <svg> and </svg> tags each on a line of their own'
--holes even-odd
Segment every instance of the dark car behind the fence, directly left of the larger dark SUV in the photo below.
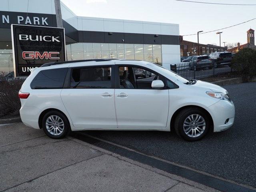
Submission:
<svg viewBox="0 0 256 192">
<path fill-rule="evenodd" d="M 189 69 L 194 70 L 194 68 L 196 70 L 200 70 L 200 69 L 204 69 L 204 68 L 212 69 L 213 65 L 211 66 L 210 57 L 207 55 L 193 56 L 191 61 L 189 62 Z"/>
</svg>

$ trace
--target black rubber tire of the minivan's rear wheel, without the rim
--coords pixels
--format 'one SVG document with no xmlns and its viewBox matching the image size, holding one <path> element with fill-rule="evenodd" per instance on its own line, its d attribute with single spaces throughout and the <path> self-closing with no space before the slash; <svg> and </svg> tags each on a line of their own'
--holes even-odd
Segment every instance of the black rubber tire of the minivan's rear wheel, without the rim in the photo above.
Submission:
<svg viewBox="0 0 256 192">
<path fill-rule="evenodd" d="M 60 133 L 60 131 L 56 130 L 56 133 L 58 135 L 54 135 L 52 133 L 50 133 L 47 128 L 46 128 L 46 120 L 50 117 L 50 116 L 58 116 L 64 123 L 64 127 L 63 127 L 63 131 Z M 43 118 L 42 118 L 42 129 L 44 130 L 44 133 L 53 139 L 60 139 L 63 138 L 64 136 L 68 135 L 71 131 L 70 129 L 70 124 L 68 122 L 68 119 L 66 118 L 66 116 L 64 114 L 62 114 L 61 112 L 57 111 L 57 110 L 52 110 L 47 112 Z"/>
</svg>

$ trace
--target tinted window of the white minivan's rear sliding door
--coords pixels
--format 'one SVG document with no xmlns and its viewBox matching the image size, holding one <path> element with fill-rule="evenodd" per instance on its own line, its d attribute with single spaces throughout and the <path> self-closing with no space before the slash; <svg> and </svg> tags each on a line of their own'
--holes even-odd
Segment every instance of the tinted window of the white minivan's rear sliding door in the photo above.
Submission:
<svg viewBox="0 0 256 192">
<path fill-rule="evenodd" d="M 71 72 L 70 88 L 107 89 L 111 86 L 110 67 L 74 68 Z"/>
</svg>

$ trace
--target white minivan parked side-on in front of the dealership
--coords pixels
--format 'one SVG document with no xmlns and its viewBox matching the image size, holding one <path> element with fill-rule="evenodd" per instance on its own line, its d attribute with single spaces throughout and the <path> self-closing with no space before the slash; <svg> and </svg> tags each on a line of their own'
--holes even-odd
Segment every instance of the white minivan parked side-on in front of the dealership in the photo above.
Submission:
<svg viewBox="0 0 256 192">
<path fill-rule="evenodd" d="M 138 60 L 47 63 L 22 85 L 22 122 L 51 138 L 78 130 L 175 130 L 185 140 L 234 122 L 228 92 Z"/>
</svg>

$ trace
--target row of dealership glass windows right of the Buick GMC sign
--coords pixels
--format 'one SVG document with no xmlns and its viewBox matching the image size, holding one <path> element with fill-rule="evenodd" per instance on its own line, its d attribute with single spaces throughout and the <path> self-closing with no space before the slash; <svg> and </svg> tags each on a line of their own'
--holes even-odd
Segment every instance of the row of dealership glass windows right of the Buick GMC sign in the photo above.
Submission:
<svg viewBox="0 0 256 192">
<path fill-rule="evenodd" d="M 74 43 L 66 45 L 67 60 L 131 59 L 162 65 L 161 45 L 118 43 Z"/>
</svg>

